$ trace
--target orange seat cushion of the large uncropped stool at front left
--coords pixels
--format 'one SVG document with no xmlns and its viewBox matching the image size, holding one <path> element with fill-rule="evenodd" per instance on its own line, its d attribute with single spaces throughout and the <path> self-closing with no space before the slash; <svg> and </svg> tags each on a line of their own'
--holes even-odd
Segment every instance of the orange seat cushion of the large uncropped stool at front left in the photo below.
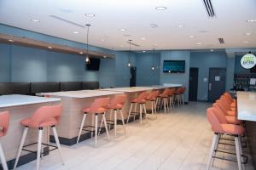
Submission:
<svg viewBox="0 0 256 170">
<path fill-rule="evenodd" d="M 54 126 L 57 124 L 57 120 L 55 118 L 49 118 L 48 120 L 45 120 L 44 122 L 40 123 L 33 123 L 31 118 L 26 118 L 21 120 L 20 122 L 21 125 L 26 126 L 26 127 L 50 127 Z"/>
</svg>

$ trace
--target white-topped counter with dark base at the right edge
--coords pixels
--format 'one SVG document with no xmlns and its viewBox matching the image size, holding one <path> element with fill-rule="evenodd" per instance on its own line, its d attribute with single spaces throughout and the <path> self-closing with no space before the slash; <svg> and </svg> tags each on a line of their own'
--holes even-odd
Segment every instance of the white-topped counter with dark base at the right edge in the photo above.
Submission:
<svg viewBox="0 0 256 170">
<path fill-rule="evenodd" d="M 247 137 L 253 156 L 253 165 L 256 165 L 256 93 L 237 92 L 237 117 L 246 121 Z"/>
</svg>

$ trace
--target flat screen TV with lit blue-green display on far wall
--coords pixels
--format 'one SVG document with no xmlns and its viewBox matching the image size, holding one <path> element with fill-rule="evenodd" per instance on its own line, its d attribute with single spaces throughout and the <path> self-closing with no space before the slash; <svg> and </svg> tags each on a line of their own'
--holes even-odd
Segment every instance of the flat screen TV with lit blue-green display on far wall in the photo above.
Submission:
<svg viewBox="0 0 256 170">
<path fill-rule="evenodd" d="M 164 72 L 185 72 L 185 60 L 164 60 Z"/>
</svg>

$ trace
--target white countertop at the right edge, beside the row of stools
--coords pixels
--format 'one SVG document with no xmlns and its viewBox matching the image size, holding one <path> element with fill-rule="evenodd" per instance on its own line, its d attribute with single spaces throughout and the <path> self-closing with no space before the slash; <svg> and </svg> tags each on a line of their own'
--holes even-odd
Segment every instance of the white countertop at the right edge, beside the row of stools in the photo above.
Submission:
<svg viewBox="0 0 256 170">
<path fill-rule="evenodd" d="M 256 122 L 256 93 L 237 92 L 237 118 Z"/>
</svg>

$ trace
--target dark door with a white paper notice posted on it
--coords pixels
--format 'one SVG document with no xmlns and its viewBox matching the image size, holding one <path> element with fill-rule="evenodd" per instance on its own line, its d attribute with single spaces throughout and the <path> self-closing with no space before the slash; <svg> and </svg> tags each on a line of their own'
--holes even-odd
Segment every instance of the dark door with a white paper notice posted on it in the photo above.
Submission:
<svg viewBox="0 0 256 170">
<path fill-rule="evenodd" d="M 210 68 L 208 84 L 208 101 L 214 102 L 224 93 L 226 86 L 226 69 Z"/>
</svg>

